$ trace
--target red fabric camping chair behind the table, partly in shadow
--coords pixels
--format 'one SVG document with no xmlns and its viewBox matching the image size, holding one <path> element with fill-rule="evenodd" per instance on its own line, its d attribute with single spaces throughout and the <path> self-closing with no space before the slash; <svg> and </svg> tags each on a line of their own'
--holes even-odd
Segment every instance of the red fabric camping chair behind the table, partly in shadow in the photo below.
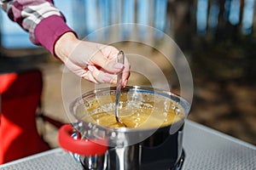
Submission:
<svg viewBox="0 0 256 170">
<path fill-rule="evenodd" d="M 36 124 L 42 88 L 41 71 L 0 74 L 0 164 L 49 150 Z"/>
</svg>

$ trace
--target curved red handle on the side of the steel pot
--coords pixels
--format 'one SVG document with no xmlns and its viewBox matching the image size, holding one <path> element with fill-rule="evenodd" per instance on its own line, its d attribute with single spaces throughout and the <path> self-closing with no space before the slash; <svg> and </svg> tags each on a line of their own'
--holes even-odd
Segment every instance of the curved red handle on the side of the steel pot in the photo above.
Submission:
<svg viewBox="0 0 256 170">
<path fill-rule="evenodd" d="M 59 144 L 64 150 L 82 156 L 101 156 L 108 150 L 107 139 L 73 139 L 73 127 L 63 125 L 59 130 Z"/>
</svg>

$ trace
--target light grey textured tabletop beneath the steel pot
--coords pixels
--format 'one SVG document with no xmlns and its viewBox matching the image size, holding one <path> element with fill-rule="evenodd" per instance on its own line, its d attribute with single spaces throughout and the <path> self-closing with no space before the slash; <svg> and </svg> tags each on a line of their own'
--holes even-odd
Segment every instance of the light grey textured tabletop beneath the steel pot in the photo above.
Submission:
<svg viewBox="0 0 256 170">
<path fill-rule="evenodd" d="M 183 132 L 183 170 L 256 170 L 256 146 L 198 123 L 186 121 Z M 1 170 L 82 169 L 60 148 L 2 165 Z"/>
</svg>

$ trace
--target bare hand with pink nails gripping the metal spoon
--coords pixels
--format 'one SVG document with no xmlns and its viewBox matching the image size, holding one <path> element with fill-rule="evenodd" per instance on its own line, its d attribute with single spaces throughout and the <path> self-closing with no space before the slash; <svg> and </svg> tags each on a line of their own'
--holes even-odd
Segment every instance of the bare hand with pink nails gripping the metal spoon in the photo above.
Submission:
<svg viewBox="0 0 256 170">
<path fill-rule="evenodd" d="M 95 83 L 116 83 L 116 75 L 123 71 L 122 85 L 130 76 L 130 64 L 117 63 L 119 50 L 113 46 L 81 41 L 73 32 L 67 32 L 55 43 L 55 54 L 70 71 Z"/>
</svg>

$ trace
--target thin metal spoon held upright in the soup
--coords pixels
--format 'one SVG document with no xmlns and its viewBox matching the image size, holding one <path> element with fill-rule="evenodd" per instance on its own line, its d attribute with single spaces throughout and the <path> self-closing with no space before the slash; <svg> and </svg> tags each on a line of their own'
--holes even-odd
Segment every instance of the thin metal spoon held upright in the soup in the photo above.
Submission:
<svg viewBox="0 0 256 170">
<path fill-rule="evenodd" d="M 117 62 L 125 64 L 125 54 L 123 51 L 119 51 L 119 54 L 117 56 Z M 123 71 L 121 71 L 117 75 L 117 83 L 116 83 L 116 95 L 115 95 L 115 102 L 114 102 L 114 115 L 116 122 L 120 123 L 123 127 L 127 127 L 124 122 L 122 122 L 119 118 L 119 98 L 121 94 L 121 88 L 122 88 L 122 76 Z"/>
</svg>

